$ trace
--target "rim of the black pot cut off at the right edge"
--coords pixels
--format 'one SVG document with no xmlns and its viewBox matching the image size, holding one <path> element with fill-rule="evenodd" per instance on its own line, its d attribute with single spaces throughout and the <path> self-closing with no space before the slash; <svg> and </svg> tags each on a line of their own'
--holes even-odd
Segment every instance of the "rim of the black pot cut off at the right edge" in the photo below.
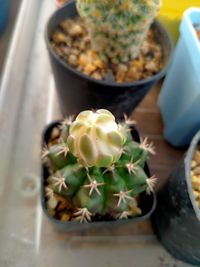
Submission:
<svg viewBox="0 0 200 267">
<path fill-rule="evenodd" d="M 200 144 L 200 130 L 193 137 L 192 142 L 189 146 L 189 149 L 186 153 L 186 157 L 184 159 L 184 162 L 185 162 L 185 173 L 186 173 L 186 183 L 187 183 L 187 187 L 188 187 L 188 194 L 190 197 L 192 207 L 193 207 L 194 212 L 196 214 L 196 217 L 198 218 L 198 220 L 200 222 L 200 209 L 199 209 L 199 207 L 197 205 L 197 201 L 194 197 L 193 188 L 192 188 L 192 180 L 191 180 L 191 175 L 190 175 L 191 161 L 193 159 L 193 155 L 194 155 L 195 149 L 196 149 L 198 144 Z"/>
</svg>

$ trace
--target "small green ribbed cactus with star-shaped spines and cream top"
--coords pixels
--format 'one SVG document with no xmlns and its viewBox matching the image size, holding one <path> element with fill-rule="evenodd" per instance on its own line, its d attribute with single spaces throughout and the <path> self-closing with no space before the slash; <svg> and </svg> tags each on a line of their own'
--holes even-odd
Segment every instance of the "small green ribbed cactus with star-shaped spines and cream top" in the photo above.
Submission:
<svg viewBox="0 0 200 267">
<path fill-rule="evenodd" d="M 56 138 L 42 155 L 50 174 L 47 201 L 56 206 L 54 196 L 61 196 L 71 220 L 80 222 L 98 215 L 114 219 L 140 215 L 139 194 L 151 193 L 156 181 L 144 171 L 154 148 L 146 139 L 134 141 L 130 124 L 127 118 L 117 123 L 108 110 L 99 109 L 83 111 L 56 128 Z"/>
</svg>

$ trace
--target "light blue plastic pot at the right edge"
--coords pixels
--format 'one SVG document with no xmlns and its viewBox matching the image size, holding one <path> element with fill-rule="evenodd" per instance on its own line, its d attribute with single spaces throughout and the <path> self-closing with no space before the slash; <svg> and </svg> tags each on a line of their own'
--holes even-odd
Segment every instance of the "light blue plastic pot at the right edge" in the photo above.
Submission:
<svg viewBox="0 0 200 267">
<path fill-rule="evenodd" d="M 194 24 L 200 25 L 200 8 L 189 8 L 183 15 L 180 39 L 158 101 L 164 136 L 174 146 L 189 144 L 200 129 L 200 41 Z"/>
</svg>

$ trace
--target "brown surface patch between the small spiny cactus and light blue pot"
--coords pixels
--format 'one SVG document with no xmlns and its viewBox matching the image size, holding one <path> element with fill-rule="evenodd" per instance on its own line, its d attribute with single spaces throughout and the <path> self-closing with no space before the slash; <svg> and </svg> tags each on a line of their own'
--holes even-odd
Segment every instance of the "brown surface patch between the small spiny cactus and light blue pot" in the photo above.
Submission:
<svg viewBox="0 0 200 267">
<path fill-rule="evenodd" d="M 151 89 L 132 114 L 132 118 L 137 122 L 140 135 L 147 136 L 156 149 L 156 155 L 150 158 L 149 167 L 151 174 L 155 174 L 158 178 L 157 190 L 166 183 L 169 174 L 177 166 L 185 152 L 184 149 L 173 147 L 164 139 L 162 117 L 157 105 L 161 85 L 160 82 Z"/>
</svg>

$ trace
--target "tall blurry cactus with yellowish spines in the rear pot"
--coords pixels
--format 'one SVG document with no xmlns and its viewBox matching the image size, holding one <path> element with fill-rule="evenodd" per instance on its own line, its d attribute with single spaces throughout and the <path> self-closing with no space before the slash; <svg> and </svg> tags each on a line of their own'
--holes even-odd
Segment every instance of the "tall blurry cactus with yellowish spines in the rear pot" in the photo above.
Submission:
<svg viewBox="0 0 200 267">
<path fill-rule="evenodd" d="M 161 0 L 77 0 L 94 50 L 112 63 L 135 58 Z"/>
</svg>

